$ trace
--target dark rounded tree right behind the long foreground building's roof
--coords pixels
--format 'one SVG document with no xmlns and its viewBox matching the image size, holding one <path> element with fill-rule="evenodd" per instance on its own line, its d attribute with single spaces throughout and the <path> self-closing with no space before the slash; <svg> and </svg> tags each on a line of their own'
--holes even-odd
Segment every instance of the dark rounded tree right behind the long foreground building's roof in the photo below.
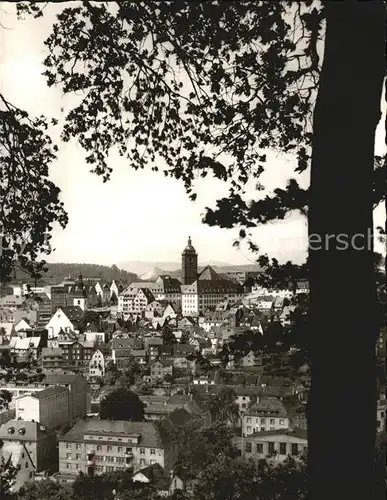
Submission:
<svg viewBox="0 0 387 500">
<path fill-rule="evenodd" d="M 144 420 L 144 404 L 134 392 L 118 388 L 109 392 L 100 403 L 99 416 L 107 420 Z"/>
</svg>

